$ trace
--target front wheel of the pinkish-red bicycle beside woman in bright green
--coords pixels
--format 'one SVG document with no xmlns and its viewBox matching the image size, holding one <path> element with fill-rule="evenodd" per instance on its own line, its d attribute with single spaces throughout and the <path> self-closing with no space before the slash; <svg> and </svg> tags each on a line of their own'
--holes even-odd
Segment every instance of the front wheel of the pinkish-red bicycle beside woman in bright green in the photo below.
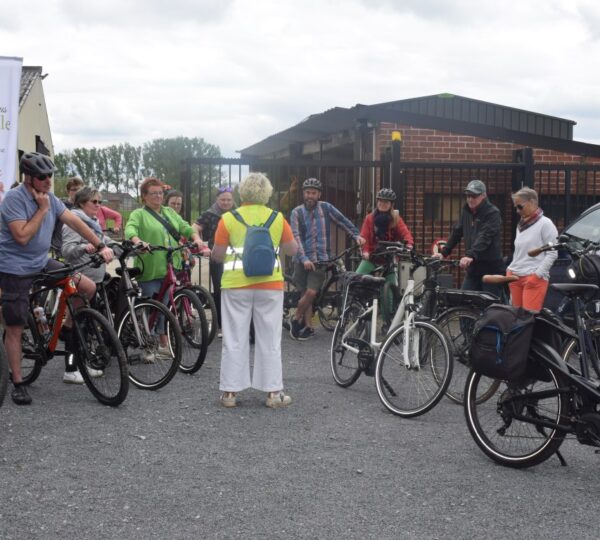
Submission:
<svg viewBox="0 0 600 540">
<path fill-rule="evenodd" d="M 181 330 L 181 362 L 184 373 L 196 373 L 204 363 L 208 349 L 208 325 L 204 306 L 196 294 L 181 289 L 173 296 L 172 311 Z"/>
</svg>

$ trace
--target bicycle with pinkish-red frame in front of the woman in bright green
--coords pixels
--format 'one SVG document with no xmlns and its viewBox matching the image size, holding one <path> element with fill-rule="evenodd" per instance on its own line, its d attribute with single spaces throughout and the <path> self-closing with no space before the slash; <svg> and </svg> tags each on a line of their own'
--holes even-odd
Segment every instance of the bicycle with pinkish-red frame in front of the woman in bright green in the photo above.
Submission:
<svg viewBox="0 0 600 540">
<path fill-rule="evenodd" d="M 167 297 L 167 307 L 177 317 L 181 330 L 182 349 L 179 369 L 184 373 L 196 373 L 204 363 L 208 350 L 208 324 L 204 305 L 191 288 L 180 284 L 173 266 L 173 253 L 194 248 L 194 243 L 185 243 L 177 247 L 148 246 L 152 251 L 167 252 L 167 273 L 163 279 L 157 299 Z"/>
</svg>

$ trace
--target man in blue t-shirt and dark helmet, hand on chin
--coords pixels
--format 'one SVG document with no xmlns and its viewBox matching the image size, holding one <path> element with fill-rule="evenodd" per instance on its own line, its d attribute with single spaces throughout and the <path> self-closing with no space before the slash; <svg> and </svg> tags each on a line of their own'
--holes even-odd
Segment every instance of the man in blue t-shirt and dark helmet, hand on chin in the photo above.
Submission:
<svg viewBox="0 0 600 540">
<path fill-rule="evenodd" d="M 29 313 L 32 280 L 20 276 L 60 266 L 48 258 L 57 220 L 83 236 L 106 262 L 112 260 L 113 252 L 50 191 L 54 163 L 47 156 L 37 152 L 23 154 L 19 170 L 24 175 L 23 183 L 8 191 L 0 206 L 0 305 L 6 330 L 4 345 L 15 386 L 12 399 L 17 405 L 29 405 L 31 397 L 21 376 L 21 339 Z M 81 276 L 77 289 L 91 298 L 96 285 Z M 72 379 L 71 382 L 79 382 Z"/>
</svg>

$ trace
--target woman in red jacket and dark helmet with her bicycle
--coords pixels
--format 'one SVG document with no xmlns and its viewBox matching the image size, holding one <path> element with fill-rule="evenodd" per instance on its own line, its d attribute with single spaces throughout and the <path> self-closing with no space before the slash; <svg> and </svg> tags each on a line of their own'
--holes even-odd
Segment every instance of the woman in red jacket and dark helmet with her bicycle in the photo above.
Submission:
<svg viewBox="0 0 600 540">
<path fill-rule="evenodd" d="M 383 261 L 373 253 L 377 249 L 379 241 L 385 242 L 404 242 L 411 249 L 415 243 L 413 235 L 400 217 L 397 210 L 394 210 L 394 201 L 396 194 L 389 188 L 380 189 L 377 192 L 377 205 L 363 222 L 360 235 L 366 240 L 362 249 L 363 261 L 356 271 L 359 274 L 370 274 L 378 264 Z M 392 282 L 396 282 L 395 274 L 385 276 Z"/>
</svg>

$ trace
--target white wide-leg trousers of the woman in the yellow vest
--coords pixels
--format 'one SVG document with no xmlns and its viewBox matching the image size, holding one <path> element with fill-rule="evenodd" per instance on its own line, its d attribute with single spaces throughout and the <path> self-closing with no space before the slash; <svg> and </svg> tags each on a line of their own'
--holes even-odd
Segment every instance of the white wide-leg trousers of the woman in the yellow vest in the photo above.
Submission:
<svg viewBox="0 0 600 540">
<path fill-rule="evenodd" d="M 283 390 L 281 322 L 283 291 L 222 289 L 221 381 L 223 392 Z M 250 321 L 254 321 L 254 371 L 250 374 Z"/>
</svg>

